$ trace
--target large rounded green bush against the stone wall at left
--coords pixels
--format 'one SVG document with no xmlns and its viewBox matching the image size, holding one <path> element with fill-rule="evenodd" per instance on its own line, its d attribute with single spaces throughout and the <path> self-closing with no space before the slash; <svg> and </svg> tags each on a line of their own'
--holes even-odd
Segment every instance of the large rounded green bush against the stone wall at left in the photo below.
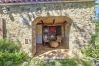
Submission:
<svg viewBox="0 0 99 66">
<path fill-rule="evenodd" d="M 0 66 L 15 66 L 27 61 L 28 55 L 20 45 L 8 39 L 0 40 Z"/>
</svg>

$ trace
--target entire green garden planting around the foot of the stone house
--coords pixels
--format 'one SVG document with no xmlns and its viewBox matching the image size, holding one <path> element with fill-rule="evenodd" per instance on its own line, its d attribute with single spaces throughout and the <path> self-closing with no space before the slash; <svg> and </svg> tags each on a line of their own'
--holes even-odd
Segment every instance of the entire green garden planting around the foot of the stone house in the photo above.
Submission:
<svg viewBox="0 0 99 66">
<path fill-rule="evenodd" d="M 20 42 L 9 39 L 0 40 L 0 66 L 93 66 L 99 63 L 99 20 L 96 32 L 88 46 L 81 49 L 83 58 L 77 56 L 66 59 L 34 59 L 21 49 Z"/>
</svg>

